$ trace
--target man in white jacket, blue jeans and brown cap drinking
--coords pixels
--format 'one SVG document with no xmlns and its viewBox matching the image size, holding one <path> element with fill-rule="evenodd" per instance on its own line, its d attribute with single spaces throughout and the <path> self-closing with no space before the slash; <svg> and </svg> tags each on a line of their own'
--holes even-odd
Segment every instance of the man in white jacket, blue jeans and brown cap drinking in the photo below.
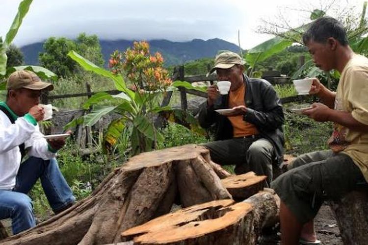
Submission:
<svg viewBox="0 0 368 245">
<path fill-rule="evenodd" d="M 53 85 L 35 73 L 16 71 L 6 88 L 6 102 L 0 102 L 0 220 L 11 218 L 17 234 L 35 226 L 27 193 L 38 178 L 54 213 L 73 205 L 75 197 L 55 159 L 65 140 L 47 141 L 37 124 L 45 114 L 41 92 L 53 90 Z"/>
</svg>

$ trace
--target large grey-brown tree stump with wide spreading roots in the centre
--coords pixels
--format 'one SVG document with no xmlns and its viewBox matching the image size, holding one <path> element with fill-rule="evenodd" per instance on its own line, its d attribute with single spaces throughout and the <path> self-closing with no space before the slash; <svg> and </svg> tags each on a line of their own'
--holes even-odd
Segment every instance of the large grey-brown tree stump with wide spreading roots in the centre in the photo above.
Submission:
<svg viewBox="0 0 368 245">
<path fill-rule="evenodd" d="M 111 172 L 90 197 L 1 242 L 3 245 L 117 243 L 123 231 L 168 213 L 177 195 L 184 207 L 204 200 L 230 199 L 208 159 L 209 150 L 196 145 L 134 156 Z"/>
</svg>

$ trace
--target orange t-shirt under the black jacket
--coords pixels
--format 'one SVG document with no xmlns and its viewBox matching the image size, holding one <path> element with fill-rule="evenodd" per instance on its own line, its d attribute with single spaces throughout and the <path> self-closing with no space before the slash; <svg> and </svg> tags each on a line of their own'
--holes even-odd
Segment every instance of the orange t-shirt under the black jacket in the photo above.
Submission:
<svg viewBox="0 0 368 245">
<path fill-rule="evenodd" d="M 230 91 L 229 92 L 229 108 L 233 108 L 234 106 L 238 106 L 238 105 L 245 105 L 244 95 L 245 95 L 244 85 L 242 85 L 236 91 Z M 234 138 L 253 135 L 253 134 L 259 134 L 257 127 L 254 124 L 243 121 L 242 115 L 239 115 L 236 117 L 228 117 L 228 119 L 233 125 Z"/>
</svg>

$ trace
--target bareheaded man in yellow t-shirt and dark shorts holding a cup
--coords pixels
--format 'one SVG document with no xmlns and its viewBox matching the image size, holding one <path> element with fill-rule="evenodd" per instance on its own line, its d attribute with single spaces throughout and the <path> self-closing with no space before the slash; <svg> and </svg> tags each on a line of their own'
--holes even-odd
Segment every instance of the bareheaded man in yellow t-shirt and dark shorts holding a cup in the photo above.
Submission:
<svg viewBox="0 0 368 245">
<path fill-rule="evenodd" d="M 313 80 L 310 94 L 321 98 L 303 113 L 318 122 L 333 122 L 330 150 L 299 156 L 288 172 L 272 182 L 281 198 L 283 245 L 318 243 L 313 219 L 323 199 L 337 199 L 368 181 L 368 59 L 349 47 L 340 22 L 316 20 L 303 36 L 315 65 L 337 70 L 337 92 Z M 300 240 L 300 241 L 299 241 Z"/>
</svg>

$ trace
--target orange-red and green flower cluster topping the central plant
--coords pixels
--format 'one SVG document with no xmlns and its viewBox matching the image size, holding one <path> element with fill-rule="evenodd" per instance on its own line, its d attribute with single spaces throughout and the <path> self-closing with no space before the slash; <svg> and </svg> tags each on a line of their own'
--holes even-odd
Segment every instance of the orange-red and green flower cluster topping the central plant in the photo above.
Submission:
<svg viewBox="0 0 368 245">
<path fill-rule="evenodd" d="M 159 52 L 150 54 L 147 42 L 134 42 L 133 48 L 128 48 L 123 55 L 118 51 L 111 54 L 109 67 L 112 73 L 127 75 L 134 88 L 149 91 L 165 90 L 172 83 L 167 71 L 162 68 L 163 57 Z M 122 61 L 124 56 L 124 61 Z"/>
</svg>

